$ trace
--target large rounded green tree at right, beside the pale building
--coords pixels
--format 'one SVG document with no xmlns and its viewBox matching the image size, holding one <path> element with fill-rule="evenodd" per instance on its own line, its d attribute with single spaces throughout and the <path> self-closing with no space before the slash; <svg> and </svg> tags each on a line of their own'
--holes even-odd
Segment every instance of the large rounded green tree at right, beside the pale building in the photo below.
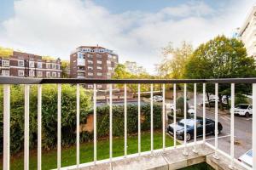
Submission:
<svg viewBox="0 0 256 170">
<path fill-rule="evenodd" d="M 236 38 L 218 36 L 201 44 L 189 57 L 183 76 L 191 79 L 255 77 L 255 60 L 247 57 L 244 44 Z M 236 93 L 248 94 L 248 84 L 236 84 Z M 230 84 L 219 84 L 218 98 L 230 96 Z M 214 94 L 214 85 L 207 84 L 207 96 Z M 227 100 L 229 102 L 229 100 Z"/>
</svg>

